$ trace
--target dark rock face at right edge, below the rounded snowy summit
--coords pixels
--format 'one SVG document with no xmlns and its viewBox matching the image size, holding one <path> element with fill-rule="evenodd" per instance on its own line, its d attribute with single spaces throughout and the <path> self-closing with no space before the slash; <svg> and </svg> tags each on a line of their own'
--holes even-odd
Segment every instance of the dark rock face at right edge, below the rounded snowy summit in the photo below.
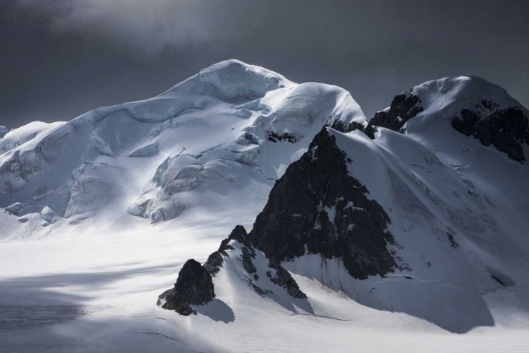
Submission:
<svg viewBox="0 0 529 353">
<path fill-rule="evenodd" d="M 474 136 L 482 145 L 493 145 L 512 160 L 525 161 L 523 144 L 529 145 L 529 123 L 521 108 L 497 109 L 497 104 L 487 100 L 481 105 L 475 111 L 461 110 L 452 119 L 452 126 L 466 136 Z"/>
</svg>

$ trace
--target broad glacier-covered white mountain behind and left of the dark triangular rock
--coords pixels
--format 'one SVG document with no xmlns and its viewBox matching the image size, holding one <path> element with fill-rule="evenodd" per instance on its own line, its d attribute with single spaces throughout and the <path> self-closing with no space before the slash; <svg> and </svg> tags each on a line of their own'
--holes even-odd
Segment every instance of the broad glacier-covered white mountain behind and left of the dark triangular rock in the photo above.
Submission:
<svg viewBox="0 0 529 353">
<path fill-rule="evenodd" d="M 236 60 L 149 100 L 33 122 L 0 140 L 0 237 L 112 232 L 121 222 L 143 226 L 130 215 L 159 223 L 226 207 L 252 219 L 331 124 L 367 119 L 341 88 Z"/>
</svg>

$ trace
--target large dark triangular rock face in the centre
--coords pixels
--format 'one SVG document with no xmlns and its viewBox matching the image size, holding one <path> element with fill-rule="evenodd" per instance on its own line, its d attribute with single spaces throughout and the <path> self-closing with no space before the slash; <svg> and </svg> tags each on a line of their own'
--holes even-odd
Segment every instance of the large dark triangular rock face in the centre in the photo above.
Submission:
<svg viewBox="0 0 529 353">
<path fill-rule="evenodd" d="M 365 186 L 351 177 L 348 158 L 323 128 L 308 152 L 291 164 L 272 189 L 249 238 L 277 263 L 319 253 L 339 257 L 351 276 L 365 279 L 397 267 L 387 249 L 389 216 L 369 200 Z"/>
</svg>

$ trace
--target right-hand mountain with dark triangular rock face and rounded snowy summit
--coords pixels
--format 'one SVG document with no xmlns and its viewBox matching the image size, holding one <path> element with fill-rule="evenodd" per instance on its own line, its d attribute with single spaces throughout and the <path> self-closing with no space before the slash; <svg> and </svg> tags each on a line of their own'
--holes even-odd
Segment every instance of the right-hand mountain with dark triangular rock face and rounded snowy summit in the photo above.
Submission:
<svg viewBox="0 0 529 353">
<path fill-rule="evenodd" d="M 214 295 L 178 297 L 200 285 L 176 282 L 159 304 L 353 320 L 319 301 L 330 290 L 450 333 L 527 317 L 528 116 L 497 85 L 458 77 L 397 95 L 368 126 L 322 128 L 250 232 L 237 226 L 202 265 Z"/>
</svg>

